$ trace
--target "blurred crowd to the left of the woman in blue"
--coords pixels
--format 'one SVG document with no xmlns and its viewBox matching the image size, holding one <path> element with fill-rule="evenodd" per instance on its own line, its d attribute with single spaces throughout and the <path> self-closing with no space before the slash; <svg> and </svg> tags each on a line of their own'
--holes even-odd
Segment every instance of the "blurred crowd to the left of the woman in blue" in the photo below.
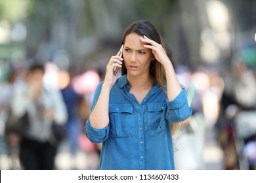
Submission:
<svg viewBox="0 0 256 183">
<path fill-rule="evenodd" d="M 83 129 L 100 73 L 76 75 L 52 62 L 6 69 L 0 83 L 0 169 L 97 169 L 100 146 Z"/>
</svg>

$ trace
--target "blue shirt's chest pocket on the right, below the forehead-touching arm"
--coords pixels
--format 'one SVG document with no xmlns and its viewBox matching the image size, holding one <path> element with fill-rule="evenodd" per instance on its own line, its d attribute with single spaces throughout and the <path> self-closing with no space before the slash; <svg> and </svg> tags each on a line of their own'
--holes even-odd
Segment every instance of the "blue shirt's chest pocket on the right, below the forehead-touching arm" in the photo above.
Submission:
<svg viewBox="0 0 256 183">
<path fill-rule="evenodd" d="M 165 120 L 163 109 L 165 103 L 148 103 L 148 133 L 149 135 L 156 136 L 165 129 Z"/>
</svg>

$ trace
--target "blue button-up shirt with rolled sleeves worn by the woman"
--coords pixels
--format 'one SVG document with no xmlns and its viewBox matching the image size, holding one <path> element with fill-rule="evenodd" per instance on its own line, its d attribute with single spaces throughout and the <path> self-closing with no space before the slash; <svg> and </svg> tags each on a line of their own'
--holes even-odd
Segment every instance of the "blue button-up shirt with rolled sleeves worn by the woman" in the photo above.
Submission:
<svg viewBox="0 0 256 183">
<path fill-rule="evenodd" d="M 92 110 L 101 88 L 102 82 L 96 88 Z M 184 88 L 168 101 L 154 84 L 140 105 L 129 88 L 126 75 L 112 86 L 108 126 L 96 129 L 89 120 L 85 125 L 91 142 L 103 142 L 100 169 L 175 169 L 171 123 L 192 114 Z"/>
</svg>

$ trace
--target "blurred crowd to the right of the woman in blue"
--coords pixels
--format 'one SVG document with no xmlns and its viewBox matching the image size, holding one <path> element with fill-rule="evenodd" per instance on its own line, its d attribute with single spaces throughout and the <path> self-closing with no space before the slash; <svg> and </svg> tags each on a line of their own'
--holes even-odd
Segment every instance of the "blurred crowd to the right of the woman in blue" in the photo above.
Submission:
<svg viewBox="0 0 256 183">
<path fill-rule="evenodd" d="M 236 56 L 228 68 L 198 67 L 192 71 L 180 65 L 177 74 L 187 88 L 193 110 L 176 137 L 178 169 L 255 169 L 255 67 Z M 209 137 L 219 150 L 205 152 L 205 147 L 211 146 Z M 217 159 L 220 165 L 207 167 L 205 159 Z"/>
</svg>

